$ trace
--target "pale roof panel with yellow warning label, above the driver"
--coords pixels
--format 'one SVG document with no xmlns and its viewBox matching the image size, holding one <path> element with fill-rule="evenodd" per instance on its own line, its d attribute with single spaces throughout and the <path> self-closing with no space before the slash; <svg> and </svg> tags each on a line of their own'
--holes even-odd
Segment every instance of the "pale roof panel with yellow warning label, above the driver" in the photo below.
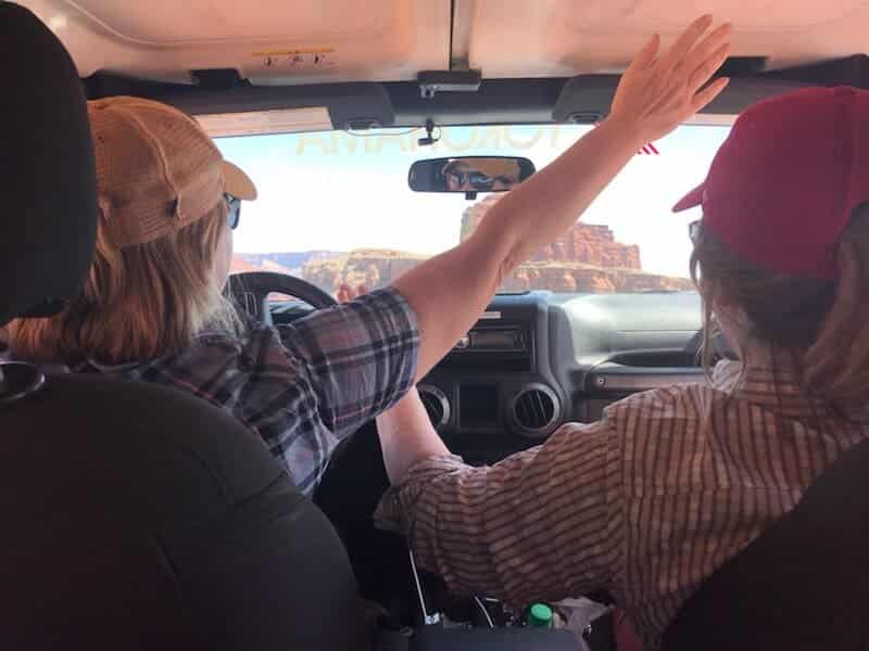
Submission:
<svg viewBox="0 0 869 651">
<path fill-rule="evenodd" d="M 190 82 L 234 69 L 254 85 L 412 81 L 450 65 L 450 0 L 20 0 L 98 72 Z"/>
</svg>

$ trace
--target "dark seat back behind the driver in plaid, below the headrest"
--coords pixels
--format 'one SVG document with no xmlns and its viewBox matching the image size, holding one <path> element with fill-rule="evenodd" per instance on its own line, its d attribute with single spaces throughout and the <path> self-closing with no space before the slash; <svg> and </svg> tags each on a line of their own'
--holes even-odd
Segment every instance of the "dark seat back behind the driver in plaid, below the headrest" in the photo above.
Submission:
<svg viewBox="0 0 869 651">
<path fill-rule="evenodd" d="M 49 376 L 0 432 L 0 648 L 365 647 L 332 527 L 204 400 Z"/>
</svg>

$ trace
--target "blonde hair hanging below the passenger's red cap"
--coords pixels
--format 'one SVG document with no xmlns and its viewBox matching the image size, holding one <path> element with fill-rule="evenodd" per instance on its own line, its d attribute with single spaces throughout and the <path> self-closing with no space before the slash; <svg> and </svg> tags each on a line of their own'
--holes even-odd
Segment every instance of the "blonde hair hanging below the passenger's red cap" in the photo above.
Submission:
<svg viewBox="0 0 869 651">
<path fill-rule="evenodd" d="M 703 365 L 713 362 L 713 304 L 740 306 L 750 335 L 784 354 L 803 387 L 839 407 L 869 399 L 869 204 L 858 206 L 840 235 L 835 281 L 797 278 L 742 261 L 701 228 L 691 277 L 703 298 Z M 734 342 L 738 347 L 746 342 Z M 773 356 L 774 357 L 774 356 Z"/>
</svg>

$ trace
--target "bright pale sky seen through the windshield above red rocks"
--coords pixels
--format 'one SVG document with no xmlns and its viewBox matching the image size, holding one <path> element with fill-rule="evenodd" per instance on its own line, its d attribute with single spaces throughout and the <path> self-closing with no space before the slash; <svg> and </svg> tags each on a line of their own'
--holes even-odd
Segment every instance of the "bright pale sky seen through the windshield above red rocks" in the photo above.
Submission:
<svg viewBox="0 0 869 651">
<path fill-rule="evenodd" d="M 235 248 L 395 248 L 433 255 L 458 242 L 462 213 L 471 202 L 462 194 L 411 191 L 407 170 L 414 161 L 521 155 L 539 170 L 589 128 L 449 127 L 430 146 L 416 142 L 425 131 L 406 129 L 218 139 L 224 156 L 240 165 L 260 192 L 255 202 L 243 204 Z M 624 244 L 639 244 L 644 271 L 687 277 L 687 225 L 698 215 L 675 215 L 670 207 L 704 179 L 728 131 L 714 126 L 678 128 L 655 143 L 658 155 L 634 156 L 581 219 L 609 226 Z"/>
</svg>

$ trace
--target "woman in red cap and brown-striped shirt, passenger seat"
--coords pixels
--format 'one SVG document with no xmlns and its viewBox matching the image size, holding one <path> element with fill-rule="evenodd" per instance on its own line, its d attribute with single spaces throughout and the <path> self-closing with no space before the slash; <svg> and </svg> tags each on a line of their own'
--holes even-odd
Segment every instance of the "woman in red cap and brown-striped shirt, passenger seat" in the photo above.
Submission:
<svg viewBox="0 0 869 651">
<path fill-rule="evenodd" d="M 451 456 L 415 393 L 379 419 L 378 509 L 455 589 L 516 604 L 606 589 L 646 649 L 688 597 L 869 436 L 869 92 L 745 111 L 705 182 L 691 272 L 704 358 L 739 361 L 628 397 L 489 468 Z"/>
</svg>

